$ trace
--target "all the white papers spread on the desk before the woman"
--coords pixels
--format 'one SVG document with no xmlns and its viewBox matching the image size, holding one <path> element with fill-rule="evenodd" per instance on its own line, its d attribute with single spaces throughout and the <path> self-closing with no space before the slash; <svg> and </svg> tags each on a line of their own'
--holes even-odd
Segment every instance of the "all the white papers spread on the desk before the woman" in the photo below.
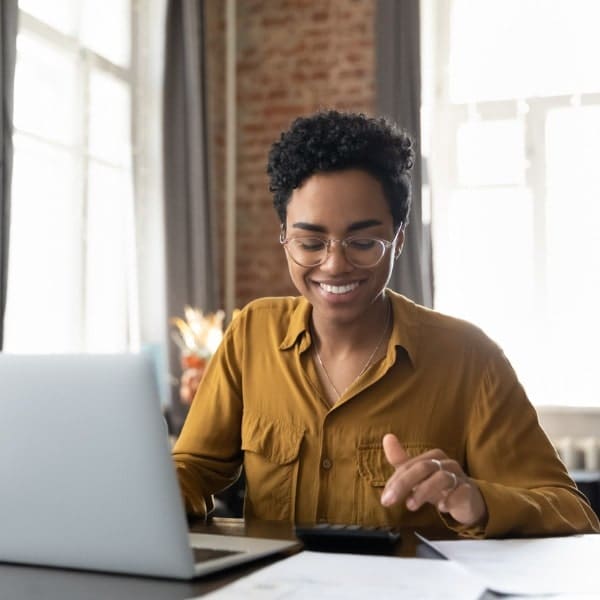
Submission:
<svg viewBox="0 0 600 600">
<path fill-rule="evenodd" d="M 600 598 L 597 534 L 451 542 L 421 539 L 448 560 L 301 552 L 205 597 L 482 600 L 501 594 L 527 600 Z"/>
</svg>

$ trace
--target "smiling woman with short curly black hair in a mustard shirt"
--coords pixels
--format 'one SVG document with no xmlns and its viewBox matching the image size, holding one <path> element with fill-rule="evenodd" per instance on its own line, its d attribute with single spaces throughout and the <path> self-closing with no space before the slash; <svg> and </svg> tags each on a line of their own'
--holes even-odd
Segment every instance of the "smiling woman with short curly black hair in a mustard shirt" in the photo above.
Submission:
<svg viewBox="0 0 600 600">
<path fill-rule="evenodd" d="M 297 119 L 269 156 L 300 296 L 227 330 L 174 460 L 189 512 L 244 465 L 246 518 L 596 531 L 502 351 L 386 288 L 410 207 L 410 138 L 383 119 Z"/>
</svg>

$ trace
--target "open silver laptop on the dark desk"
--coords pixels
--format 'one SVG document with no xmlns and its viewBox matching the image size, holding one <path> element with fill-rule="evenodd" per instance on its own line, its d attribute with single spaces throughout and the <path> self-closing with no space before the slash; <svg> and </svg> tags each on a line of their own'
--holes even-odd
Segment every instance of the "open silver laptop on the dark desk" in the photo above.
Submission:
<svg viewBox="0 0 600 600">
<path fill-rule="evenodd" d="M 188 532 L 149 356 L 0 353 L 0 562 L 192 579 L 296 545 Z"/>
</svg>

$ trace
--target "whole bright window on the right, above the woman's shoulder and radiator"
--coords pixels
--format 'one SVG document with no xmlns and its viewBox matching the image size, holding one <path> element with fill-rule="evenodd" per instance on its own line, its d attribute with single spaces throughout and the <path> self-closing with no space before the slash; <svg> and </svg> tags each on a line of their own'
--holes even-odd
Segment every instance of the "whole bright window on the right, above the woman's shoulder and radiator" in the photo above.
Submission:
<svg viewBox="0 0 600 600">
<path fill-rule="evenodd" d="M 547 6 L 425 3 L 435 302 L 535 404 L 600 406 L 600 5 Z"/>
</svg>

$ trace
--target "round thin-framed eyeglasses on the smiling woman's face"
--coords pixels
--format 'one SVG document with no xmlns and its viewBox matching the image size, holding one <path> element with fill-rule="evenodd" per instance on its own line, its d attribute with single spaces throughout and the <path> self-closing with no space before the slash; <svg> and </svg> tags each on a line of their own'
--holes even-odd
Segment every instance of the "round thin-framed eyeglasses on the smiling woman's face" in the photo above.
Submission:
<svg viewBox="0 0 600 600">
<path fill-rule="evenodd" d="M 369 268 L 379 264 L 388 248 L 394 245 L 398 233 L 389 242 L 379 238 L 351 236 L 343 240 L 325 239 L 319 237 L 294 237 L 285 238 L 283 231 L 279 242 L 286 249 L 290 258 L 301 267 L 317 267 L 322 265 L 331 252 L 331 245 L 338 242 L 343 250 L 346 260 L 358 268 Z"/>
</svg>

